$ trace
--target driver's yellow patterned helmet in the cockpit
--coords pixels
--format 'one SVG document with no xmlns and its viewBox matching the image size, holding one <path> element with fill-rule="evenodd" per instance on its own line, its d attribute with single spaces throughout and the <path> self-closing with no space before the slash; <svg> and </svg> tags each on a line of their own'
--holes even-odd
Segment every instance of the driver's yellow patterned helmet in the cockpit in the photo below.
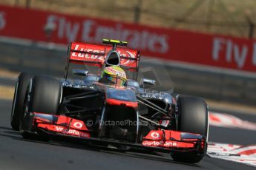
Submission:
<svg viewBox="0 0 256 170">
<path fill-rule="evenodd" d="M 101 75 L 108 84 L 116 86 L 126 86 L 127 78 L 125 71 L 118 66 L 105 67 Z"/>
</svg>

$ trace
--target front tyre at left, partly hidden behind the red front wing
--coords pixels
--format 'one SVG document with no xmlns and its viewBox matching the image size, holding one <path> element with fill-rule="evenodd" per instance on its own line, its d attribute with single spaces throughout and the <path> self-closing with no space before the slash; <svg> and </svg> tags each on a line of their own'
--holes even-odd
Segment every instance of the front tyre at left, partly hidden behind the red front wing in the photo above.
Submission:
<svg viewBox="0 0 256 170">
<path fill-rule="evenodd" d="M 30 112 L 42 112 L 55 115 L 59 110 L 62 88 L 59 80 L 47 76 L 34 76 L 27 87 L 24 101 L 24 113 L 20 119 L 22 136 L 25 139 L 50 140 L 50 136 L 36 129 L 37 134 L 30 133 Z"/>
</svg>

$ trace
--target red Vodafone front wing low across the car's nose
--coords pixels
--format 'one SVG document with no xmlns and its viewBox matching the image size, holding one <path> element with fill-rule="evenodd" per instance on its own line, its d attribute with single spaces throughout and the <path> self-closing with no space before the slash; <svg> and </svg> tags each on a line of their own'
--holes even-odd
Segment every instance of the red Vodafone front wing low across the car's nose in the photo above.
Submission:
<svg viewBox="0 0 256 170">
<path fill-rule="evenodd" d="M 141 143 L 128 143 L 117 140 L 109 140 L 91 137 L 91 132 L 82 120 L 76 120 L 63 115 L 48 115 L 33 112 L 30 132 L 41 130 L 50 135 L 62 135 L 76 137 L 82 140 L 91 140 L 101 143 L 111 143 L 134 148 L 148 149 L 156 152 L 197 152 L 206 154 L 206 137 L 188 132 L 173 130 L 151 130 L 148 135 L 142 137 Z"/>
</svg>

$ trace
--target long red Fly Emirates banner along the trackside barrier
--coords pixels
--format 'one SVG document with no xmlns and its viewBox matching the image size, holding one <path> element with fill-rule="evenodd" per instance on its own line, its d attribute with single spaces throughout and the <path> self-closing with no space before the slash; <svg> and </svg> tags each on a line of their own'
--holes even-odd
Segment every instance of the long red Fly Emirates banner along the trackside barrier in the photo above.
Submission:
<svg viewBox="0 0 256 170">
<path fill-rule="evenodd" d="M 142 56 L 256 72 L 256 40 L 0 6 L 0 35 L 67 44 L 128 41 Z M 67 46 L 68 47 L 68 46 Z"/>
</svg>

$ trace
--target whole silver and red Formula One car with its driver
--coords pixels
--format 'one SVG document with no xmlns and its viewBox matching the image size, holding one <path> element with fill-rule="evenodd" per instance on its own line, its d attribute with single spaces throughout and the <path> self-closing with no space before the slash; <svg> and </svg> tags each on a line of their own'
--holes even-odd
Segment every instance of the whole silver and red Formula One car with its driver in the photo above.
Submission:
<svg viewBox="0 0 256 170">
<path fill-rule="evenodd" d="M 71 43 L 64 78 L 22 72 L 13 98 L 13 129 L 26 139 L 61 135 L 199 162 L 207 149 L 206 102 L 146 89 L 157 81 L 139 78 L 140 52 L 125 47 L 125 41 L 103 43 Z M 71 65 L 101 71 L 92 74 L 76 67 L 70 74 Z"/>
</svg>

